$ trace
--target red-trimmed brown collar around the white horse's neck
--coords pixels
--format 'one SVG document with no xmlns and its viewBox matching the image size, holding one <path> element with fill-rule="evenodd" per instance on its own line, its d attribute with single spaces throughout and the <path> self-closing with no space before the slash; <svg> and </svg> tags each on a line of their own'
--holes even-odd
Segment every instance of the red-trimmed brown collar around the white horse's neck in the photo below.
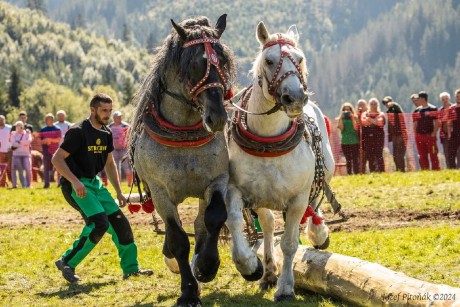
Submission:
<svg viewBox="0 0 460 307">
<path fill-rule="evenodd" d="M 241 108 L 245 109 L 251 91 L 242 96 Z M 304 139 L 305 123 L 295 118 L 291 127 L 283 134 L 273 137 L 261 137 L 251 133 L 247 127 L 247 112 L 236 110 L 232 117 L 230 135 L 245 152 L 257 157 L 279 157 L 292 150 Z"/>
</svg>

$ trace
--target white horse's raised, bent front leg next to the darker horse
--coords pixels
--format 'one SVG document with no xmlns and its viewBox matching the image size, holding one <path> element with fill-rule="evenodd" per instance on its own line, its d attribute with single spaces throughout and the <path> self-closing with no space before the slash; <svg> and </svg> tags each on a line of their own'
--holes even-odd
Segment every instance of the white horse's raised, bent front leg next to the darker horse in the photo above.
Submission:
<svg viewBox="0 0 460 307">
<path fill-rule="evenodd" d="M 246 241 L 243 227 L 243 198 L 241 192 L 233 185 L 227 191 L 227 222 L 232 235 L 232 259 L 236 269 L 244 279 L 256 281 L 262 277 L 263 265 Z"/>
</svg>

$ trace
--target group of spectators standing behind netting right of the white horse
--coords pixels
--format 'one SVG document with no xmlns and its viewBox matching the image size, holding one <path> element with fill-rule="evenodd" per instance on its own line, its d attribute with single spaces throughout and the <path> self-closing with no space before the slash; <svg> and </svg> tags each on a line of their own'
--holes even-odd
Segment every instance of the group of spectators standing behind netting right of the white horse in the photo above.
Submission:
<svg viewBox="0 0 460 307">
<path fill-rule="evenodd" d="M 336 118 L 340 132 L 336 135 L 340 150 L 334 154 L 337 165 L 346 167 L 347 174 L 384 172 L 389 169 L 384 159 L 385 144 L 388 144 L 396 171 L 407 171 L 409 160 L 415 162 L 416 169 L 440 170 L 439 147 L 445 166 L 460 168 L 460 88 L 454 98 L 455 104 L 452 104 L 448 92 L 440 93 L 437 107 L 429 102 L 425 91 L 412 94 L 411 113 L 405 113 L 391 96 L 382 99 L 386 114 L 381 111 L 377 98 L 369 102 L 360 99 L 356 107 L 350 102 L 343 103 Z M 334 135 L 331 142 L 334 144 Z M 412 144 L 415 148 L 411 148 Z M 345 162 L 341 163 L 342 160 Z"/>
</svg>

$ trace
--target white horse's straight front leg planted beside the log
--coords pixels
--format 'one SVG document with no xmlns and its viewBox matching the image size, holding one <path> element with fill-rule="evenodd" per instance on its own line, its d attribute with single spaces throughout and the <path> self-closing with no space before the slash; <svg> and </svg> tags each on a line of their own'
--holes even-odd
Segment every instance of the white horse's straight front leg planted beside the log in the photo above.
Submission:
<svg viewBox="0 0 460 307">
<path fill-rule="evenodd" d="M 278 278 L 275 302 L 292 300 L 294 295 L 293 261 L 299 246 L 299 224 L 305 212 L 305 199 L 308 194 L 297 196 L 288 205 L 284 234 L 281 237 L 281 251 L 283 252 L 283 265 Z"/>
</svg>

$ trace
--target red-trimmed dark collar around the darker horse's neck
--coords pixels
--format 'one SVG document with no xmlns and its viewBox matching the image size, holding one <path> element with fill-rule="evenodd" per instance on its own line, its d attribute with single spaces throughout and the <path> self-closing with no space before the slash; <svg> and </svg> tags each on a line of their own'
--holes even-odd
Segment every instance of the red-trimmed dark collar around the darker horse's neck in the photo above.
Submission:
<svg viewBox="0 0 460 307">
<path fill-rule="evenodd" d="M 193 126 L 176 126 L 164 119 L 151 104 L 150 112 L 143 117 L 144 130 L 158 143 L 170 147 L 199 147 L 209 143 L 216 136 L 203 127 L 199 121 Z"/>
</svg>

